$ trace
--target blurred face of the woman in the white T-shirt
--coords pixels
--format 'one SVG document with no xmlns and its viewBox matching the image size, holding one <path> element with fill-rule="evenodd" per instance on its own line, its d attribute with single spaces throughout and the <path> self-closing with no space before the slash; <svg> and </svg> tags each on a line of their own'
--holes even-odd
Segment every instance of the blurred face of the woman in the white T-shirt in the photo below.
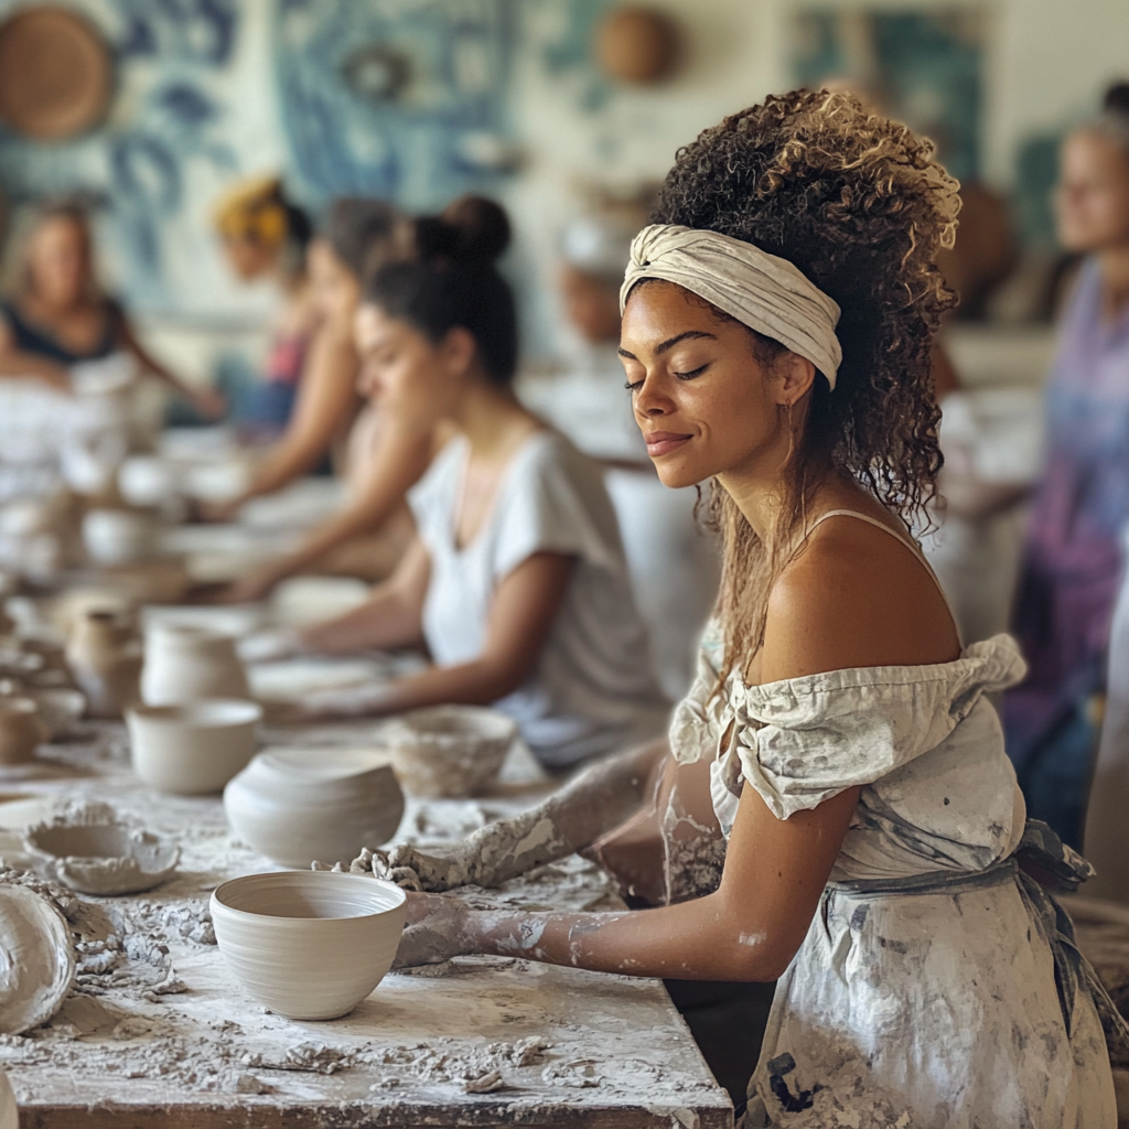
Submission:
<svg viewBox="0 0 1129 1129">
<path fill-rule="evenodd" d="M 445 344 L 432 344 L 408 322 L 370 304 L 357 312 L 355 341 L 361 395 L 417 426 L 453 414 L 462 380 Z"/>
</svg>

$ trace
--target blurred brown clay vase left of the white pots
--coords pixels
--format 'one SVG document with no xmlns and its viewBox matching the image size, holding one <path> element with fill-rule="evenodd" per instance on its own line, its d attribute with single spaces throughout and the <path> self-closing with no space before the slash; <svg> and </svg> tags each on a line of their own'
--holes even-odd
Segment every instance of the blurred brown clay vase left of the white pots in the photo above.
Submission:
<svg viewBox="0 0 1129 1129">
<path fill-rule="evenodd" d="M 132 621 L 119 612 L 78 616 L 67 663 L 91 717 L 120 718 L 141 695 L 141 644 Z"/>
</svg>

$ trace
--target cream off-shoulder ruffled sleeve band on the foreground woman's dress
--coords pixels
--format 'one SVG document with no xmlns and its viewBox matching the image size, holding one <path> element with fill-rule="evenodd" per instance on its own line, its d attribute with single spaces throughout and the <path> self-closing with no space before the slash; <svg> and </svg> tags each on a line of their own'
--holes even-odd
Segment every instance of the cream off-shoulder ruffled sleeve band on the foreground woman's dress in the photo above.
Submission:
<svg viewBox="0 0 1129 1129">
<path fill-rule="evenodd" d="M 672 725 L 675 756 L 697 760 L 709 751 L 728 793 L 739 797 L 750 785 L 780 820 L 936 749 L 983 694 L 1025 673 L 1015 642 L 997 636 L 931 666 L 831 671 L 759 686 L 730 676 L 708 699 L 716 666 L 707 691 L 712 664 L 704 642 L 699 679 Z"/>
</svg>

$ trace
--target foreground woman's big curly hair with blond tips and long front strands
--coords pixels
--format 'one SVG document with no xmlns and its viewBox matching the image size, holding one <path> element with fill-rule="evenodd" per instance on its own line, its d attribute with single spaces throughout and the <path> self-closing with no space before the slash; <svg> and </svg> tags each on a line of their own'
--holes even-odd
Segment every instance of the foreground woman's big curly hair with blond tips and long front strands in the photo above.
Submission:
<svg viewBox="0 0 1129 1129">
<path fill-rule="evenodd" d="M 726 674 L 763 642 L 769 593 L 803 544 L 807 506 L 829 472 L 910 520 L 934 496 L 942 455 L 931 343 L 956 305 L 935 257 L 953 244 L 960 198 L 933 154 L 930 141 L 848 94 L 795 90 L 706 130 L 666 177 L 653 222 L 752 243 L 788 260 L 842 310 L 835 390 L 814 385 L 770 545 L 712 484 Z M 784 349 L 753 336 L 762 362 Z"/>
</svg>

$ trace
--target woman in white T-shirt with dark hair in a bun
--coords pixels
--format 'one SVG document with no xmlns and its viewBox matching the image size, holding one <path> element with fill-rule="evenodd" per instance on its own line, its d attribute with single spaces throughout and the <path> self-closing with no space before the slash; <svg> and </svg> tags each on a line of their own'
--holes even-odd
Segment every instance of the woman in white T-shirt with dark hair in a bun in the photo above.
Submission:
<svg viewBox="0 0 1129 1129">
<path fill-rule="evenodd" d="M 646 632 L 599 467 L 511 388 L 514 297 L 495 266 L 497 205 L 414 225 L 357 320 L 365 380 L 395 426 L 456 437 L 409 496 L 417 536 L 359 610 L 303 633 L 326 654 L 425 642 L 434 666 L 391 685 L 315 695 L 305 716 L 496 702 L 551 768 L 659 732 Z"/>
</svg>

